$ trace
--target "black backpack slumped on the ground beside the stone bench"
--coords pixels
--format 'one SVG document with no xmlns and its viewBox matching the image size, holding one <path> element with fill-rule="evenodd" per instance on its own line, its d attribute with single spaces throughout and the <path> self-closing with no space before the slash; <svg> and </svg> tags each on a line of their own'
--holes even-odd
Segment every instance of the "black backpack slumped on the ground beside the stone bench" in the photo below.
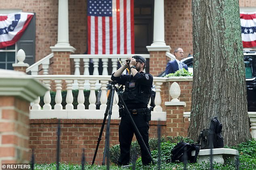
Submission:
<svg viewBox="0 0 256 170">
<path fill-rule="evenodd" d="M 195 156 L 191 156 L 191 152 L 193 150 L 195 150 Z M 195 163 L 197 161 L 197 155 L 199 153 L 199 145 L 181 141 L 174 146 L 174 148 L 171 150 L 171 153 L 172 162 L 184 162 L 185 160 L 187 160 L 190 163 Z"/>
</svg>

